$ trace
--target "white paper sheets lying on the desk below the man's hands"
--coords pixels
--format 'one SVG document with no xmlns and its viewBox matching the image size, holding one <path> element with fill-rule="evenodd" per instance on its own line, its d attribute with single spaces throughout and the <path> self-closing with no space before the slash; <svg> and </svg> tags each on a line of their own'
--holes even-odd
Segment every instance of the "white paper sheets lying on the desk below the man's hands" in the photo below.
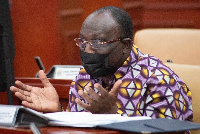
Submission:
<svg viewBox="0 0 200 134">
<path fill-rule="evenodd" d="M 51 126 L 95 127 L 114 122 L 151 119 L 146 116 L 123 117 L 120 114 L 91 114 L 89 112 L 56 112 L 44 114 Z"/>
</svg>

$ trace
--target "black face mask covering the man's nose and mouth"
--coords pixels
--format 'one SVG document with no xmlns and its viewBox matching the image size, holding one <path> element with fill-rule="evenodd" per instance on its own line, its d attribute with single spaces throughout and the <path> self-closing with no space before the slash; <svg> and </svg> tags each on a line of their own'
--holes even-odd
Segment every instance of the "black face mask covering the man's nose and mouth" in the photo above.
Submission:
<svg viewBox="0 0 200 134">
<path fill-rule="evenodd" d="M 109 67 L 108 57 L 110 54 L 93 54 L 81 51 L 81 60 L 86 72 L 92 77 L 104 77 L 114 74 L 116 67 Z"/>
</svg>

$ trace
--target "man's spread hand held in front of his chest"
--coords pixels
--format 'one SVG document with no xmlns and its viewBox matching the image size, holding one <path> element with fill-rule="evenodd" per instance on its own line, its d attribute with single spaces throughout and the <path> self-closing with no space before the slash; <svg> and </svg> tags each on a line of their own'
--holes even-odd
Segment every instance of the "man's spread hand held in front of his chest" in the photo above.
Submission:
<svg viewBox="0 0 200 134">
<path fill-rule="evenodd" d="M 91 87 L 85 87 L 85 90 L 88 93 L 83 92 L 82 90 L 78 91 L 78 94 L 85 99 L 88 104 L 83 103 L 80 99 L 76 98 L 76 103 L 82 108 L 86 109 L 91 113 L 96 114 L 115 114 L 117 113 L 117 94 L 118 88 L 122 83 L 121 80 L 118 80 L 110 92 L 107 92 L 100 84 L 94 84 L 100 95 L 98 95 Z"/>
</svg>

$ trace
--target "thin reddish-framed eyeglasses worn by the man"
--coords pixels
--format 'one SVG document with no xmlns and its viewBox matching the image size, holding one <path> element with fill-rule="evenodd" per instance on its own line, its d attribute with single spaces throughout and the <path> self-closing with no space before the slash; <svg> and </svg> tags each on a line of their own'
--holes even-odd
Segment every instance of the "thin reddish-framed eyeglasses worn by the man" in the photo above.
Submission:
<svg viewBox="0 0 200 134">
<path fill-rule="evenodd" d="M 90 40 L 86 41 L 85 39 L 81 38 L 75 38 L 74 41 L 76 41 L 76 45 L 80 47 L 81 50 L 84 50 L 86 47 L 86 44 L 89 44 L 93 49 L 99 49 L 102 47 L 103 44 L 113 43 L 116 41 L 122 41 L 122 40 L 131 40 L 130 38 L 117 38 L 110 41 L 101 41 L 101 40 Z"/>
</svg>

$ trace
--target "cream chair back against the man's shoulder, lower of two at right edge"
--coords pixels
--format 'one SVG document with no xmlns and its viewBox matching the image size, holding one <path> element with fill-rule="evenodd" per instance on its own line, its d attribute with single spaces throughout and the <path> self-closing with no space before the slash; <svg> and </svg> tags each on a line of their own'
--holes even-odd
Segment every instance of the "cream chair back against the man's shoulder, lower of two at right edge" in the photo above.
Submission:
<svg viewBox="0 0 200 134">
<path fill-rule="evenodd" d="M 166 63 L 189 87 L 192 93 L 194 122 L 200 123 L 200 66 Z M 200 130 L 191 131 L 200 134 Z"/>
</svg>

